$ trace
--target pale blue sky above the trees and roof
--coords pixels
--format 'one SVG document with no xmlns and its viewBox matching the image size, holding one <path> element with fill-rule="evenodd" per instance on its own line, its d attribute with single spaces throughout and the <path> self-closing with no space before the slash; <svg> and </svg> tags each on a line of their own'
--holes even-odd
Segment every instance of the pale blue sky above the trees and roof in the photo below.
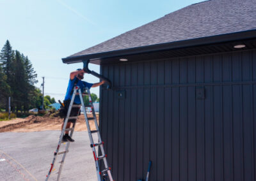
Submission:
<svg viewBox="0 0 256 181">
<path fill-rule="evenodd" d="M 0 0 L 0 48 L 10 40 L 13 50 L 28 55 L 37 87 L 45 76 L 45 93 L 63 100 L 69 73 L 83 64 L 63 64 L 61 58 L 156 20 L 196 0 Z M 99 66 L 90 65 L 99 72 Z M 99 82 L 85 75 L 86 82 Z M 99 88 L 92 88 L 99 95 Z"/>
</svg>

